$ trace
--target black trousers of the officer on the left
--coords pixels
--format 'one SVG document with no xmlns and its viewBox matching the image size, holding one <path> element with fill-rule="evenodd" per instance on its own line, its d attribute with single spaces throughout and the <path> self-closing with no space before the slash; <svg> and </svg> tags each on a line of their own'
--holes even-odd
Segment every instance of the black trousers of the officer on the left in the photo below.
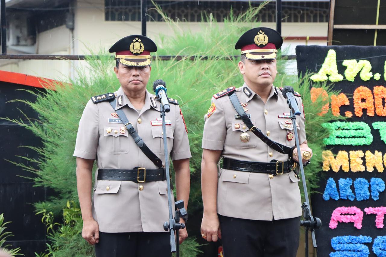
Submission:
<svg viewBox="0 0 386 257">
<path fill-rule="evenodd" d="M 95 244 L 97 257 L 170 257 L 170 233 L 104 233 Z"/>
</svg>

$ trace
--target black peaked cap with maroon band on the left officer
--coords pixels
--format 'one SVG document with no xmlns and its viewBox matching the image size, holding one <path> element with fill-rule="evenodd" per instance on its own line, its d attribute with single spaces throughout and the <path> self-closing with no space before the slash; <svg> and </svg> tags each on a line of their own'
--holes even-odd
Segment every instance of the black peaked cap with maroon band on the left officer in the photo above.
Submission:
<svg viewBox="0 0 386 257">
<path fill-rule="evenodd" d="M 115 52 L 115 59 L 126 66 L 148 66 L 151 64 L 151 52 L 157 51 L 153 40 L 142 35 L 130 35 L 118 40 L 108 52 Z"/>
</svg>

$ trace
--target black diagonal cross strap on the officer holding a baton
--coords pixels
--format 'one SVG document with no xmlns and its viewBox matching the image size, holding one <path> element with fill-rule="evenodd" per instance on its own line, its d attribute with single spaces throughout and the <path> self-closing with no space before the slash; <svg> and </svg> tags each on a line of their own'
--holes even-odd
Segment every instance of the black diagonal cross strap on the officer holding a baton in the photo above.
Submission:
<svg viewBox="0 0 386 257">
<path fill-rule="evenodd" d="M 292 151 L 293 148 L 285 146 L 283 144 L 276 143 L 275 141 L 271 140 L 269 137 L 267 137 L 264 133 L 261 132 L 260 129 L 253 126 L 253 123 L 251 119 L 247 116 L 245 113 L 243 107 L 240 104 L 239 98 L 237 98 L 235 91 L 230 92 L 228 94 L 230 102 L 232 102 L 233 107 L 235 108 L 236 112 L 240 115 L 240 118 L 242 121 L 247 125 L 250 131 L 252 131 L 258 138 L 261 139 L 264 143 L 266 143 L 269 147 L 273 148 L 274 150 L 278 151 L 279 153 L 284 153 L 292 157 Z"/>
</svg>

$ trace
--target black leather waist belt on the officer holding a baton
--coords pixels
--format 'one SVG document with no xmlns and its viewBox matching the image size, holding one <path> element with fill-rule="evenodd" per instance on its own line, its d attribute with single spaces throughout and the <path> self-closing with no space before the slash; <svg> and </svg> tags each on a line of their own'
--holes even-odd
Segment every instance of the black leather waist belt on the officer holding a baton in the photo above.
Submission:
<svg viewBox="0 0 386 257">
<path fill-rule="evenodd" d="M 247 171 L 256 173 L 267 173 L 274 176 L 290 172 L 293 167 L 291 161 L 272 160 L 269 163 L 255 161 L 240 161 L 223 158 L 222 168 L 227 170 Z"/>
</svg>

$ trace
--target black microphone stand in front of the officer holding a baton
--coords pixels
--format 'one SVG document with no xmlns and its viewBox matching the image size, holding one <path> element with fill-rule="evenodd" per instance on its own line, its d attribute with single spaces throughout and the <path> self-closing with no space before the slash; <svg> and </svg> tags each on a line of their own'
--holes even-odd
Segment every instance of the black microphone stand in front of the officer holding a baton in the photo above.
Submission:
<svg viewBox="0 0 386 257">
<path fill-rule="evenodd" d="M 289 101 L 287 102 L 289 104 Z M 306 198 L 306 201 L 301 205 L 301 208 L 303 209 L 303 220 L 300 221 L 300 225 L 305 227 L 305 238 L 304 238 L 305 239 L 305 257 L 308 257 L 308 230 L 311 230 L 313 247 L 316 249 L 317 245 L 316 245 L 316 238 L 315 238 L 315 230 L 322 226 L 322 221 L 320 220 L 320 218 L 312 217 L 311 215 L 310 201 L 308 200 L 306 177 L 304 175 L 303 161 L 302 161 L 302 156 L 300 151 L 299 136 L 296 128 L 296 116 L 293 114 L 291 104 L 289 104 L 289 108 L 291 109 L 290 114 L 292 119 L 292 125 L 294 128 L 293 130 L 295 134 L 296 149 L 298 149 L 301 181 L 303 183 L 304 196 Z"/>
</svg>

